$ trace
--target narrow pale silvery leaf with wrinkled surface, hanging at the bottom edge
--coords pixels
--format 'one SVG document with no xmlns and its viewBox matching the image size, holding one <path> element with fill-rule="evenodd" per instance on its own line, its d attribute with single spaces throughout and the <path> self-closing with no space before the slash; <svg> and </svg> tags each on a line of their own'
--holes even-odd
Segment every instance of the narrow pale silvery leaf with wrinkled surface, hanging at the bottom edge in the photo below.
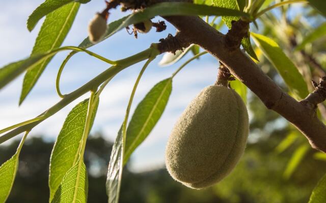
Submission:
<svg viewBox="0 0 326 203">
<path fill-rule="evenodd" d="M 122 157 L 123 157 L 123 135 L 122 126 L 118 132 L 116 141 L 112 147 L 110 162 L 108 163 L 106 194 L 108 203 L 118 203 L 121 177 L 122 177 Z"/>
</svg>

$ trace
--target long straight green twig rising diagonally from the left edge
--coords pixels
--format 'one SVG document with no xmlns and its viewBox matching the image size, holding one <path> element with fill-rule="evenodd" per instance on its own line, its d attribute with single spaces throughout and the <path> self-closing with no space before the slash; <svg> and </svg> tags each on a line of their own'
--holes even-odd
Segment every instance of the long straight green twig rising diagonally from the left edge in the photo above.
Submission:
<svg viewBox="0 0 326 203">
<path fill-rule="evenodd" d="M 135 55 L 132 55 L 130 57 L 120 60 L 121 63 L 119 65 L 111 66 L 110 68 L 108 68 L 107 70 L 105 70 L 104 72 L 102 72 L 101 74 L 99 74 L 98 76 L 93 78 L 92 80 L 90 80 L 88 83 L 86 83 L 82 87 L 79 87 L 75 91 L 67 94 L 56 105 L 54 105 L 51 108 L 49 108 L 48 110 L 46 110 L 40 116 L 44 115 L 46 118 L 52 116 L 53 114 L 57 113 L 62 108 L 64 108 L 68 104 L 70 104 L 73 100 L 75 100 L 79 96 L 82 96 L 83 94 L 85 94 L 88 91 L 94 90 L 96 87 L 101 85 L 108 78 L 111 78 L 112 76 L 118 74 L 120 71 L 126 69 L 130 65 L 133 65 L 135 63 L 138 63 L 140 61 L 150 58 L 153 54 L 158 55 L 159 51 L 156 48 L 151 47 L 151 48 L 148 48 L 140 53 L 137 53 Z M 43 120 L 45 120 L 45 119 L 43 119 Z M 3 136 L 0 136 L 0 144 L 17 136 L 17 134 L 19 134 L 21 132 L 31 130 L 33 127 L 35 127 L 36 125 L 41 123 L 43 120 L 35 121 L 33 123 L 20 126 L 16 129 L 4 134 Z"/>
</svg>

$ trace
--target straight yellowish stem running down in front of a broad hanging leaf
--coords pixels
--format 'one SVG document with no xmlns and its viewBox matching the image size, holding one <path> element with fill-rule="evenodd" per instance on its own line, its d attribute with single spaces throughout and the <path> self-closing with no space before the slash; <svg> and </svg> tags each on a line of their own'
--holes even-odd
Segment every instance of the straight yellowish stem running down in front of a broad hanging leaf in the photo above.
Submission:
<svg viewBox="0 0 326 203">
<path fill-rule="evenodd" d="M 86 147 L 86 141 L 88 138 L 88 134 L 90 132 L 90 125 L 91 125 L 91 118 L 94 111 L 94 97 L 95 97 L 95 91 L 91 91 L 91 96 L 89 98 L 88 102 L 88 109 L 87 109 L 87 116 L 86 116 L 86 122 L 85 122 L 85 128 L 83 132 L 83 141 L 82 146 L 80 147 L 79 151 L 79 159 L 82 160 L 84 157 L 85 147 Z"/>
</svg>

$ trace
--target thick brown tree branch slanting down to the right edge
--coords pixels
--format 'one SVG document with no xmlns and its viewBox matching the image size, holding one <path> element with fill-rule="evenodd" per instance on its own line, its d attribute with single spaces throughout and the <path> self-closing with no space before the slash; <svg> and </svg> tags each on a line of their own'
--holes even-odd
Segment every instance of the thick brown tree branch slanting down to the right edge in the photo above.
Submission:
<svg viewBox="0 0 326 203">
<path fill-rule="evenodd" d="M 326 152 L 326 126 L 317 118 L 315 109 L 284 92 L 243 51 L 230 50 L 225 35 L 199 17 L 164 18 L 172 23 L 189 43 L 201 46 L 224 63 L 231 74 L 250 88 L 268 109 L 279 113 L 296 126 L 314 149 Z"/>
</svg>

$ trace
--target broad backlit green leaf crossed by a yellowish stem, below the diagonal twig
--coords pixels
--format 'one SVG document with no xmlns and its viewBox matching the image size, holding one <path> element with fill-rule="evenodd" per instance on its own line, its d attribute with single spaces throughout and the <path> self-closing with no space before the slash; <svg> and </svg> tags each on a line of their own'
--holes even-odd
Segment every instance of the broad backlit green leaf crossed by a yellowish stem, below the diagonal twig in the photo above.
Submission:
<svg viewBox="0 0 326 203">
<path fill-rule="evenodd" d="M 91 124 L 93 125 L 99 100 L 94 103 Z M 89 99 L 77 104 L 68 114 L 58 139 L 53 146 L 49 167 L 50 201 L 55 196 L 63 177 L 79 158 L 85 129 Z M 90 127 L 91 128 L 91 127 Z"/>
</svg>

